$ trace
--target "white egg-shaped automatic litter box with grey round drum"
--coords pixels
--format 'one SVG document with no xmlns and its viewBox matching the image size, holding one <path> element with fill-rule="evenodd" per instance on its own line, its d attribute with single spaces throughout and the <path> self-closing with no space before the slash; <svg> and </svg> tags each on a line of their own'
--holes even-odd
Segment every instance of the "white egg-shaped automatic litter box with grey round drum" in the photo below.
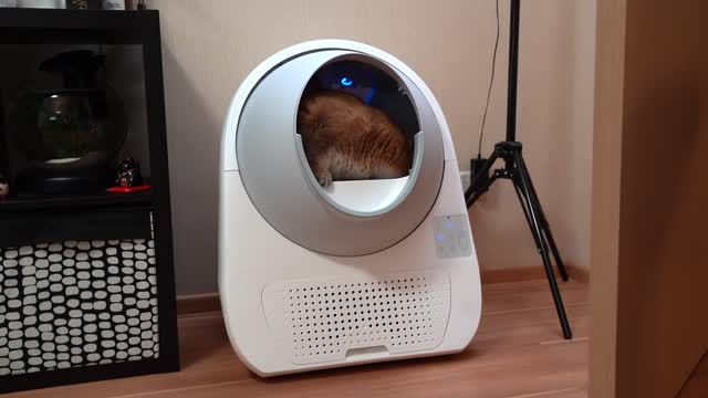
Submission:
<svg viewBox="0 0 708 398">
<path fill-rule="evenodd" d="M 415 107 L 409 176 L 316 184 L 296 109 L 317 71 L 346 62 L 383 71 Z M 403 62 L 351 41 L 285 49 L 237 91 L 221 145 L 219 291 L 230 342 L 251 370 L 451 354 L 470 343 L 481 286 L 452 140 Z"/>
</svg>

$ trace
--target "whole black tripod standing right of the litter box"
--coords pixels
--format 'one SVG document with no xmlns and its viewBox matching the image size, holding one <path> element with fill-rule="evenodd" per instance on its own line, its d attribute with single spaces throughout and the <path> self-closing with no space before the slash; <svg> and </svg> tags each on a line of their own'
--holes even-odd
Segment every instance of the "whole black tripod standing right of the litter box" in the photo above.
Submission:
<svg viewBox="0 0 708 398">
<path fill-rule="evenodd" d="M 494 151 L 489 159 L 477 159 L 472 163 L 472 181 L 465 192 L 465 200 L 467 207 L 471 207 L 477 199 L 479 199 L 489 187 L 498 179 L 509 179 L 513 184 L 513 188 L 517 191 L 517 197 L 523 209 L 527 222 L 531 228 L 533 240 L 535 241 L 537 249 L 543 260 L 543 266 L 545 269 L 545 275 L 549 280 L 551 293 L 553 294 L 553 302 L 555 303 L 555 311 L 561 322 L 561 328 L 563 329 L 563 336 L 565 338 L 572 338 L 573 333 L 565 315 L 565 308 L 563 306 L 563 298 L 561 292 L 558 289 L 558 282 L 555 281 L 555 274 L 553 273 L 553 265 L 551 263 L 551 255 L 553 254 L 555 265 L 563 277 L 563 281 L 568 281 L 568 272 L 565 265 L 561 260 L 561 254 L 558 251 L 551 228 L 545 219 L 541 202 L 535 193 L 533 184 L 531 182 L 531 175 L 523 161 L 521 155 L 521 143 L 516 140 L 517 129 L 517 81 L 519 71 L 519 15 L 520 15 L 520 0 L 511 0 L 511 19 L 509 23 L 509 88 L 507 96 L 507 140 L 494 145 Z M 496 169 L 491 177 L 489 171 L 498 159 L 504 161 L 502 168 Z M 550 250 L 549 250 L 550 249 Z"/>
</svg>

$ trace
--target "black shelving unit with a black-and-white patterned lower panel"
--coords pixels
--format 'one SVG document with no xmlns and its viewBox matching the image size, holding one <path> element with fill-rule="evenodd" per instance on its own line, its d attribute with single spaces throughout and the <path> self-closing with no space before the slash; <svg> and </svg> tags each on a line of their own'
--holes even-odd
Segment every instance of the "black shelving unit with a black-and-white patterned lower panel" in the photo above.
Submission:
<svg viewBox="0 0 708 398">
<path fill-rule="evenodd" d="M 0 9 L 3 60 L 24 45 L 76 44 L 139 46 L 146 125 L 132 133 L 145 134 L 152 190 L 12 189 L 0 201 L 0 392 L 179 369 L 159 14 Z M 6 142 L 0 167 L 14 176 Z"/>
</svg>

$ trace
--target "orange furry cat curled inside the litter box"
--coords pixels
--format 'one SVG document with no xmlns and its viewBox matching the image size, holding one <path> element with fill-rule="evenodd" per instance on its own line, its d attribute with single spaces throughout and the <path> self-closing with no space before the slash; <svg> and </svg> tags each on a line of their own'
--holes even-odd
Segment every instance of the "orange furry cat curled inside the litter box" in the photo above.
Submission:
<svg viewBox="0 0 708 398">
<path fill-rule="evenodd" d="M 406 135 L 385 113 L 351 94 L 316 92 L 303 98 L 298 132 L 323 187 L 333 180 L 404 177 L 412 167 Z"/>
</svg>

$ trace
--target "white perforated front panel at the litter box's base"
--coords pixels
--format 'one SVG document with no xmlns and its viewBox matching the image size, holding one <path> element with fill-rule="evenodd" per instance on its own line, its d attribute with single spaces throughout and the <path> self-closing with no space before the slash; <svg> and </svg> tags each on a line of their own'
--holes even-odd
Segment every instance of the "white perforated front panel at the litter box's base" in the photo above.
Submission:
<svg viewBox="0 0 708 398">
<path fill-rule="evenodd" d="M 275 282 L 263 290 L 266 317 L 293 364 L 437 347 L 450 312 L 446 272 Z"/>
</svg>

